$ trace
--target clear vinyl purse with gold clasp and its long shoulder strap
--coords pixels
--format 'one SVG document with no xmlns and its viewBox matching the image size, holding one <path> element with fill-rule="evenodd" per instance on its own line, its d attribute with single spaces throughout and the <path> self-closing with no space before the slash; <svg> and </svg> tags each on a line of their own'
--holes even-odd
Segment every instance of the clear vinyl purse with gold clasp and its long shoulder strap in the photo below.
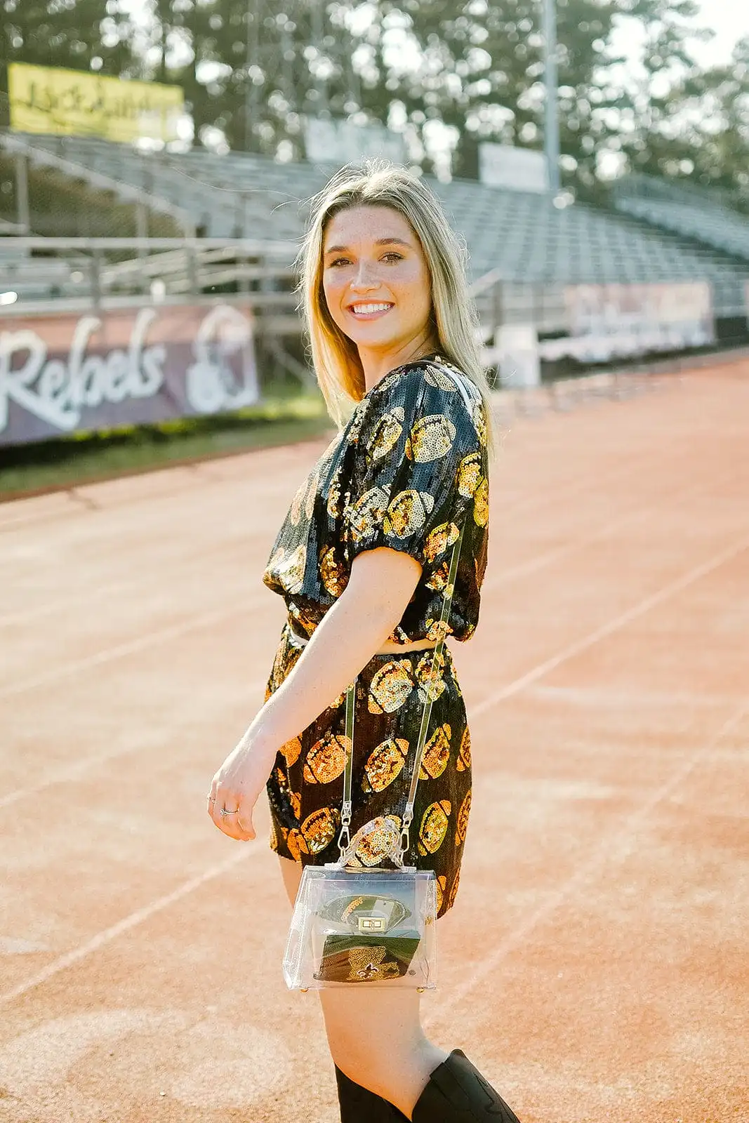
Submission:
<svg viewBox="0 0 749 1123">
<path fill-rule="evenodd" d="M 354 703 L 356 681 L 346 692 L 346 767 L 338 838 L 340 857 L 325 866 L 308 865 L 294 903 L 283 958 L 291 990 L 366 984 L 437 986 L 437 879 L 431 869 L 404 866 L 419 773 L 433 702 L 432 684 L 445 642 L 465 522 L 450 558 L 442 600 L 439 638 L 426 687 L 419 739 L 402 825 L 381 816 L 350 837 Z M 373 865 L 367 866 L 367 855 Z M 389 857 L 393 869 L 375 864 Z"/>
</svg>

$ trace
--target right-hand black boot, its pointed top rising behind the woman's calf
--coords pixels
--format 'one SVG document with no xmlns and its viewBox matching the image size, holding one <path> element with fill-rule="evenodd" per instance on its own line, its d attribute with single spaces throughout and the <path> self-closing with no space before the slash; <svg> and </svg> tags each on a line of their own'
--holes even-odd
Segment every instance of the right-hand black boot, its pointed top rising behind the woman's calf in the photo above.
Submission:
<svg viewBox="0 0 749 1123">
<path fill-rule="evenodd" d="M 431 1074 L 411 1119 L 413 1123 L 520 1123 L 460 1049 Z"/>
</svg>

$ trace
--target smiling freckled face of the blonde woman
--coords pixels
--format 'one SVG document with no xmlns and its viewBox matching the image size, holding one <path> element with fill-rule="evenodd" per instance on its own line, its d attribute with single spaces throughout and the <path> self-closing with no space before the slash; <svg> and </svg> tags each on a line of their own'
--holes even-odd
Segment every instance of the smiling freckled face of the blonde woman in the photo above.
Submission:
<svg viewBox="0 0 749 1123">
<path fill-rule="evenodd" d="M 322 287 L 337 327 L 363 353 L 398 357 L 432 338 L 427 261 L 390 207 L 351 207 L 329 221 Z"/>
</svg>

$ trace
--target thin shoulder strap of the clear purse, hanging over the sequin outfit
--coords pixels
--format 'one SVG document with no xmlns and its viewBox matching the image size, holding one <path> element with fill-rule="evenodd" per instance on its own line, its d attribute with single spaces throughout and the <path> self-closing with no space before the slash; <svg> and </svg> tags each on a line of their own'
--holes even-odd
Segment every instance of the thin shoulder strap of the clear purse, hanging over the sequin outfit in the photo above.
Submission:
<svg viewBox="0 0 749 1123">
<path fill-rule="evenodd" d="M 440 369 L 445 369 L 440 365 Z M 472 412 L 472 403 L 469 401 L 468 394 L 463 385 L 463 380 L 453 374 L 449 371 L 454 382 L 458 386 L 463 400 L 466 404 L 468 412 Z M 435 645 L 435 654 L 431 660 L 431 669 L 429 672 L 429 679 L 426 686 L 426 702 L 424 707 L 421 713 L 421 725 L 419 728 L 419 739 L 417 741 L 417 751 L 413 760 L 413 772 L 411 774 L 411 786 L 409 788 L 409 795 L 405 802 L 405 810 L 403 812 L 403 820 L 401 825 L 401 851 L 402 857 L 408 853 L 411 846 L 411 823 L 413 822 L 413 807 L 417 798 L 417 788 L 419 786 L 419 774 L 421 772 L 421 761 L 423 759 L 424 746 L 427 743 L 427 732 L 429 729 L 429 719 L 431 716 L 432 702 L 435 701 L 435 687 L 438 678 L 438 667 L 440 656 L 442 654 L 442 648 L 445 646 L 445 633 L 447 631 L 445 623 L 449 619 L 450 604 L 453 601 L 453 593 L 455 590 L 455 578 L 458 570 L 458 559 L 460 557 L 460 547 L 463 545 L 463 536 L 466 529 L 466 521 L 464 520 L 463 527 L 458 535 L 457 541 L 453 547 L 453 555 L 450 557 L 450 569 L 447 578 L 447 584 L 445 586 L 445 594 L 442 596 L 442 611 L 439 618 L 438 624 L 438 637 L 437 643 Z M 346 766 L 344 768 L 344 802 L 340 813 L 340 834 L 338 837 L 338 849 L 340 850 L 341 858 L 346 853 L 348 847 L 350 846 L 350 823 L 351 823 L 351 784 L 354 776 L 354 710 L 356 703 L 356 679 L 350 684 L 346 691 Z"/>
</svg>

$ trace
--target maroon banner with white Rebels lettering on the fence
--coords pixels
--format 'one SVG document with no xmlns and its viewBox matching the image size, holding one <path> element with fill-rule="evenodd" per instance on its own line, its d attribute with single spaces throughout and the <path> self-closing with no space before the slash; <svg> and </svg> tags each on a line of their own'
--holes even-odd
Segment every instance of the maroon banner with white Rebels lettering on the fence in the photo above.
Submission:
<svg viewBox="0 0 749 1123">
<path fill-rule="evenodd" d="M 0 319 L 0 446 L 221 413 L 258 398 L 245 305 Z"/>
</svg>

